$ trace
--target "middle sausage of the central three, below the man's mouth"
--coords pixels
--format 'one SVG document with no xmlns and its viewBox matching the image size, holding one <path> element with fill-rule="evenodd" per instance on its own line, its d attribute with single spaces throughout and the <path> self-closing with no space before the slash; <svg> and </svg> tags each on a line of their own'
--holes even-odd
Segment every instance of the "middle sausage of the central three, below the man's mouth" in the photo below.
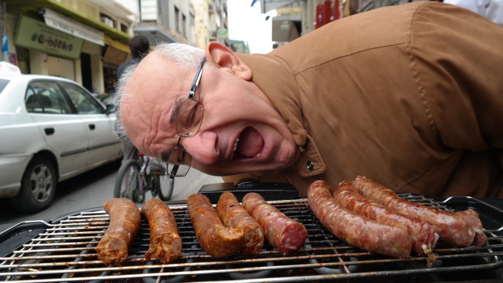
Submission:
<svg viewBox="0 0 503 283">
<path fill-rule="evenodd" d="M 243 255 L 255 255 L 260 252 L 264 246 L 264 230 L 232 193 L 224 192 L 220 195 L 216 211 L 226 227 L 243 230 L 244 245 L 241 250 Z"/>
</svg>

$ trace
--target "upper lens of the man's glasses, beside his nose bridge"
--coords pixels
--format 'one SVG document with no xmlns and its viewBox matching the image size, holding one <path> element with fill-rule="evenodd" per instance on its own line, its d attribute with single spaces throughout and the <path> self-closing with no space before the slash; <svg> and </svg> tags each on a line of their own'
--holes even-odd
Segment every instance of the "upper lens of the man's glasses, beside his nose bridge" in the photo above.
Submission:
<svg viewBox="0 0 503 283">
<path fill-rule="evenodd" d="M 197 100 L 186 99 L 180 107 L 177 131 L 181 136 L 194 136 L 203 122 L 203 104 Z"/>
</svg>

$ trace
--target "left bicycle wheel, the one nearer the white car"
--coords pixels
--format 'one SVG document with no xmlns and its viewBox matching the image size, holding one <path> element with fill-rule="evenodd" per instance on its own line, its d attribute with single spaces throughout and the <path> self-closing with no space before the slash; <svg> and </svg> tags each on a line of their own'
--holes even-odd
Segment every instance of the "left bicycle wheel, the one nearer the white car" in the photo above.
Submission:
<svg viewBox="0 0 503 283">
<path fill-rule="evenodd" d="M 141 186 L 140 165 L 134 159 L 126 161 L 117 173 L 114 197 L 125 197 L 134 202 L 143 202 L 145 192 L 141 192 Z"/>
</svg>

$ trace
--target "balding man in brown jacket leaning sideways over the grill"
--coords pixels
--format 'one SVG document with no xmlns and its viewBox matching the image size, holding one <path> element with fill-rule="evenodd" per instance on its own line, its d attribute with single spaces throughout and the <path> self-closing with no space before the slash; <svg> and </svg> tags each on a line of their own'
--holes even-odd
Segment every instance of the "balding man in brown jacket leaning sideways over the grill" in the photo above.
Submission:
<svg viewBox="0 0 503 283">
<path fill-rule="evenodd" d="M 174 176 L 192 162 L 301 196 L 364 175 L 398 192 L 503 197 L 501 50 L 501 27 L 437 2 L 337 20 L 269 54 L 163 44 L 120 85 L 117 131 Z"/>
</svg>

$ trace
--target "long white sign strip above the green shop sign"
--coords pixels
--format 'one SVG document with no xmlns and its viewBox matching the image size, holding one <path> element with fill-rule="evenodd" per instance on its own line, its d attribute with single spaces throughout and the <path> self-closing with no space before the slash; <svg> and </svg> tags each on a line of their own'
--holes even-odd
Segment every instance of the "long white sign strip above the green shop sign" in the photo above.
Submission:
<svg viewBox="0 0 503 283">
<path fill-rule="evenodd" d="M 105 43 L 103 42 L 105 34 L 97 29 L 82 25 L 73 19 L 58 14 L 47 8 L 45 8 L 44 19 L 45 24 L 49 27 L 80 37 L 87 41 L 91 41 L 98 45 L 105 46 Z"/>
</svg>

